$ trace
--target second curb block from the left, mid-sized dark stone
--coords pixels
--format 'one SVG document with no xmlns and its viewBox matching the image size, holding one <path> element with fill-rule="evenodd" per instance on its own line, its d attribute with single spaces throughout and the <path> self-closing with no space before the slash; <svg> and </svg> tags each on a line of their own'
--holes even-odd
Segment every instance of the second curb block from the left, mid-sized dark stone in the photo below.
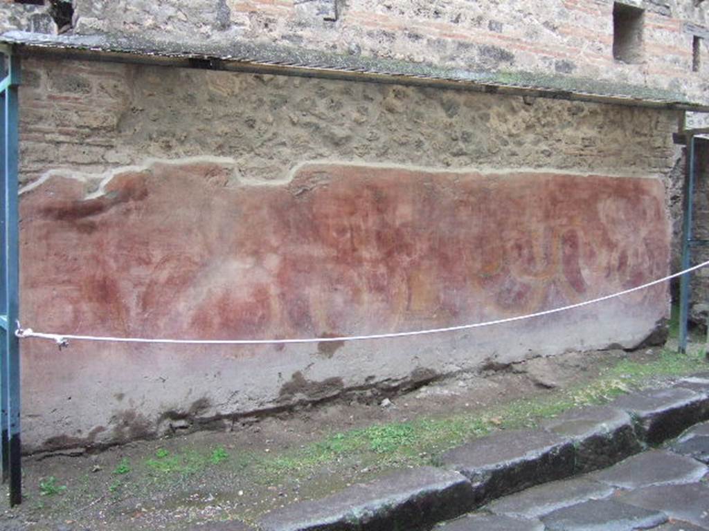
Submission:
<svg viewBox="0 0 709 531">
<path fill-rule="evenodd" d="M 542 430 L 502 431 L 446 452 L 440 464 L 470 479 L 474 501 L 480 505 L 571 476 L 574 445 Z"/>
</svg>

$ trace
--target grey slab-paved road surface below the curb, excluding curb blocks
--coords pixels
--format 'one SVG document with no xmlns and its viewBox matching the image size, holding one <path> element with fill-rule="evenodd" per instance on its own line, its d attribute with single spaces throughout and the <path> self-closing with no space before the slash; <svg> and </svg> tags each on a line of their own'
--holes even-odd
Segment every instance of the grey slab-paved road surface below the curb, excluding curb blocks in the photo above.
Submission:
<svg viewBox="0 0 709 531">
<path fill-rule="evenodd" d="M 436 531 L 709 530 L 709 422 L 613 467 L 498 498 Z"/>
</svg>

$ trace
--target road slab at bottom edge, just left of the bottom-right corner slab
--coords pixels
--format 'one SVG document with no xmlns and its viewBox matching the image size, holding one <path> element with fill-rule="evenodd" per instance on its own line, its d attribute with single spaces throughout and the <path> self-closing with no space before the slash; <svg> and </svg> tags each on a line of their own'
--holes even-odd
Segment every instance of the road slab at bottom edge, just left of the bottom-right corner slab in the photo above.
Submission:
<svg viewBox="0 0 709 531">
<path fill-rule="evenodd" d="M 586 501 L 542 518 L 547 531 L 633 531 L 657 527 L 666 521 L 666 515 L 658 510 L 612 500 Z"/>
</svg>

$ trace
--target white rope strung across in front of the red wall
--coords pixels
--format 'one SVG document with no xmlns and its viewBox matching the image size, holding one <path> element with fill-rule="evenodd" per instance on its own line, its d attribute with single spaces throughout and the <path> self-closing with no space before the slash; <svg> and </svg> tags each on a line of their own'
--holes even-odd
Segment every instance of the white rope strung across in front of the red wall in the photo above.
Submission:
<svg viewBox="0 0 709 531">
<path fill-rule="evenodd" d="M 410 332 L 391 332 L 391 333 L 375 333 L 369 336 L 341 336 L 341 337 L 328 337 L 328 338 L 293 338 L 293 339 L 165 339 L 165 338 L 118 338 L 111 336 L 77 336 L 71 333 L 44 333 L 35 332 L 33 329 L 22 329 L 20 324 L 17 324 L 17 329 L 15 335 L 18 338 L 39 338 L 48 339 L 50 341 L 55 341 L 60 348 L 68 345 L 68 341 L 104 341 L 113 343 L 164 343 L 169 345 L 288 345 L 292 343 L 333 343 L 335 341 L 365 341 L 368 339 L 389 339 L 389 338 L 403 338 L 410 336 L 425 336 L 431 333 L 444 333 L 444 332 L 455 332 L 459 330 L 469 330 L 482 328 L 483 326 L 493 326 L 496 324 L 512 323 L 514 321 L 523 321 L 525 319 L 532 319 L 535 317 L 542 317 L 545 315 L 558 314 L 559 312 L 566 312 L 567 310 L 581 308 L 588 306 L 589 304 L 596 304 L 597 302 L 603 302 L 608 299 L 615 299 L 615 297 L 623 297 L 632 292 L 645 290 L 648 287 L 652 287 L 667 280 L 673 278 L 681 277 L 692 271 L 696 271 L 701 268 L 705 268 L 709 265 L 709 261 L 702 262 L 691 268 L 680 271 L 679 273 L 674 273 L 674 275 L 669 275 L 658 280 L 653 280 L 652 282 L 647 282 L 636 287 L 631 287 L 628 290 L 623 290 L 612 295 L 605 295 L 603 297 L 598 297 L 597 299 L 591 299 L 584 302 L 578 302 L 576 304 L 569 304 L 568 306 L 562 306 L 559 308 L 545 310 L 543 312 L 535 312 L 533 314 L 520 315 L 516 317 L 508 317 L 506 319 L 496 319 L 495 321 L 484 321 L 482 323 L 474 324 L 461 324 L 459 326 L 448 326 L 442 329 L 428 329 L 428 330 L 415 330 Z"/>
</svg>

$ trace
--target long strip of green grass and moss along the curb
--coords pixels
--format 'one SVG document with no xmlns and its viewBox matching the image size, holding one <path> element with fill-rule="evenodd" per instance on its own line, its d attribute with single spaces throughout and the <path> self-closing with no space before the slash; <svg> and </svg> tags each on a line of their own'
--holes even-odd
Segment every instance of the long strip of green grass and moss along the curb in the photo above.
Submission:
<svg viewBox="0 0 709 531">
<path fill-rule="evenodd" d="M 661 351 L 657 360 L 620 360 L 591 382 L 542 397 L 519 399 L 484 413 L 466 412 L 405 423 L 386 423 L 330 435 L 296 452 L 257 458 L 256 476 L 272 481 L 283 474 L 311 474 L 323 465 L 357 459 L 374 466 L 427 464 L 440 452 L 493 430 L 534 428 L 545 418 L 593 404 L 604 404 L 657 377 L 679 377 L 706 368 L 703 350 L 681 355 Z"/>
</svg>

